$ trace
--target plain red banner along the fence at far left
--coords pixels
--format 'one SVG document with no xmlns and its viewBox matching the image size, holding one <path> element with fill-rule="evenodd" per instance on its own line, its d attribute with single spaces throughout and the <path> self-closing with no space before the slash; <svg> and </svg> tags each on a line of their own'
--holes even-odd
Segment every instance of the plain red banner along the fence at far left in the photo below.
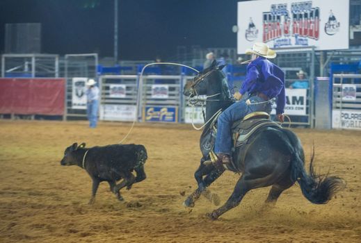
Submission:
<svg viewBox="0 0 361 243">
<path fill-rule="evenodd" d="M 0 114 L 63 115 L 64 78 L 0 78 Z"/>
</svg>

